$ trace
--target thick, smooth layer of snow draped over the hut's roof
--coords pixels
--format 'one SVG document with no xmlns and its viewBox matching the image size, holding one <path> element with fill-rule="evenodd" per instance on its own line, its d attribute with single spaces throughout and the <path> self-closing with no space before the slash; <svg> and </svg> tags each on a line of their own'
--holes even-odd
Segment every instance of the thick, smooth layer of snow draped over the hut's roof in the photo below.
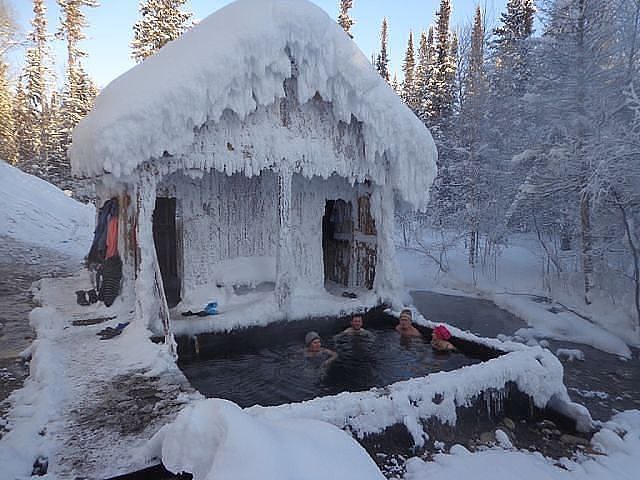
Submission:
<svg viewBox="0 0 640 480">
<path fill-rule="evenodd" d="M 391 183 L 415 206 L 424 206 L 436 173 L 437 152 L 429 131 L 339 25 L 307 0 L 238 0 L 114 80 L 74 131 L 74 173 L 126 178 L 163 152 L 188 155 L 194 128 L 218 122 L 227 109 L 245 119 L 284 97 L 283 82 L 291 76 L 287 49 L 298 65 L 299 102 L 317 92 L 331 102 L 339 120 L 350 122 L 353 115 L 363 122 L 367 160 L 375 162 L 371 176 Z M 265 135 L 281 139 L 257 139 L 256 144 L 291 140 L 286 128 L 276 130 L 280 133 Z M 292 143 L 293 161 L 312 154 L 303 148 Z M 386 179 L 385 154 L 390 162 Z M 326 155 L 324 161 L 332 158 Z M 265 166 L 264 159 L 251 159 L 255 165 L 246 158 L 237 165 L 224 160 L 199 165 L 249 175 Z M 327 175 L 326 164 L 315 168 L 304 173 Z M 344 165 L 335 170 L 353 178 Z"/>
</svg>

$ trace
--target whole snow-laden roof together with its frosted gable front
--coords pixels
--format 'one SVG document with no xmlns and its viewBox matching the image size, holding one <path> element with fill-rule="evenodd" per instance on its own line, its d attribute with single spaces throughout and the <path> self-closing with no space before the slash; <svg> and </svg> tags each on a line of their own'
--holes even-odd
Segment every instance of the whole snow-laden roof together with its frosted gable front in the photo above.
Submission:
<svg viewBox="0 0 640 480">
<path fill-rule="evenodd" d="M 105 88 L 70 151 L 76 173 L 125 182 L 165 154 L 248 176 L 288 158 L 307 177 L 389 182 L 416 207 L 436 158 L 424 125 L 302 0 L 239 0 L 203 20 Z"/>
</svg>

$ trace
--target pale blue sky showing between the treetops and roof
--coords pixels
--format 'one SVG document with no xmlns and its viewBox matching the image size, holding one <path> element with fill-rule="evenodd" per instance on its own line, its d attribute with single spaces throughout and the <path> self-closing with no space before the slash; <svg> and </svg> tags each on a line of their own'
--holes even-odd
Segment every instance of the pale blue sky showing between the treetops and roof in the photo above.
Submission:
<svg viewBox="0 0 640 480">
<path fill-rule="evenodd" d="M 332 18 L 338 14 L 337 0 L 312 0 L 322 7 Z M 453 23 L 470 21 L 478 2 L 487 5 L 495 17 L 504 9 L 507 0 L 453 0 Z M 83 48 L 88 57 L 84 64 L 89 75 L 98 86 L 104 87 L 118 75 L 134 65 L 130 57 L 129 43 L 133 37 L 133 24 L 138 19 L 139 0 L 99 0 L 100 6 L 86 9 L 89 27 Z M 10 0 L 17 21 L 23 33 L 31 28 L 32 2 L 30 0 Z M 55 0 L 46 0 L 49 31 L 58 26 L 58 8 Z M 205 18 L 220 7 L 231 3 L 229 0 L 191 0 L 188 2 L 197 19 Z M 392 71 L 400 71 L 407 45 L 409 30 L 414 34 L 426 30 L 433 23 L 439 0 L 354 0 L 351 16 L 356 24 L 353 28 L 354 40 L 367 57 L 380 48 L 379 31 L 382 18 L 389 22 L 389 49 Z M 61 42 L 55 42 L 58 77 L 62 77 L 65 52 Z M 14 70 L 21 62 L 21 56 L 13 55 Z"/>
</svg>

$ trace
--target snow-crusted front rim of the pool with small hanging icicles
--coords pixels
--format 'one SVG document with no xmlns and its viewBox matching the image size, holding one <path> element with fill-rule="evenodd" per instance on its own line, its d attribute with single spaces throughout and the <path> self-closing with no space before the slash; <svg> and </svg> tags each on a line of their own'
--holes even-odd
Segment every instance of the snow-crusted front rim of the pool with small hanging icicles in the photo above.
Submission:
<svg viewBox="0 0 640 480">
<path fill-rule="evenodd" d="M 422 420 L 436 417 L 442 423 L 455 425 L 458 407 L 469 406 L 483 391 L 501 391 L 508 382 L 513 382 L 522 393 L 531 397 L 536 407 L 542 409 L 549 403 L 563 405 L 562 413 L 573 414 L 577 424 L 580 423 L 577 417 L 586 415 L 588 419 L 582 420 L 588 420 L 590 425 L 588 411 L 569 400 L 562 376 L 562 364 L 551 352 L 540 347 L 526 347 L 477 365 L 433 373 L 383 388 L 344 392 L 274 407 L 254 406 L 245 411 L 274 420 L 322 420 L 347 429 L 358 438 L 403 424 L 415 446 L 421 447 L 428 438 Z"/>
</svg>

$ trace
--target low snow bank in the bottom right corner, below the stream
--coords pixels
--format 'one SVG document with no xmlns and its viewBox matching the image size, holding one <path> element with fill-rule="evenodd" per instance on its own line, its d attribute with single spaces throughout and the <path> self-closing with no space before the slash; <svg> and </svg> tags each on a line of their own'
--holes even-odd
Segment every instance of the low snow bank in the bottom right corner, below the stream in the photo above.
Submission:
<svg viewBox="0 0 640 480">
<path fill-rule="evenodd" d="M 539 453 L 492 448 L 470 453 L 451 448 L 433 461 L 412 458 L 404 480 L 474 478 L 475 480 L 610 480 L 637 478 L 640 471 L 640 411 L 622 412 L 607 422 L 592 440 L 606 455 L 558 463 Z"/>
</svg>

